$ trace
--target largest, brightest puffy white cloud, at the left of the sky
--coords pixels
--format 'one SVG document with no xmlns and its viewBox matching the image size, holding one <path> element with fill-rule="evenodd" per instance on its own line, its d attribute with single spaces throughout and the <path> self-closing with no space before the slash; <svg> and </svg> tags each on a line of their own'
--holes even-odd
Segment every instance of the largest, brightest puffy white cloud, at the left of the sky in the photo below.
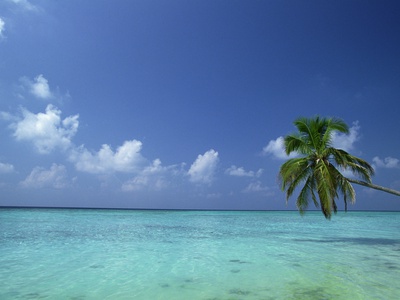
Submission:
<svg viewBox="0 0 400 300">
<path fill-rule="evenodd" d="M 51 104 L 45 113 L 34 114 L 22 109 L 22 119 L 11 123 L 14 137 L 18 141 L 30 141 L 39 153 L 50 153 L 55 148 L 66 150 L 79 126 L 79 116 L 61 120 L 61 111 Z"/>
</svg>

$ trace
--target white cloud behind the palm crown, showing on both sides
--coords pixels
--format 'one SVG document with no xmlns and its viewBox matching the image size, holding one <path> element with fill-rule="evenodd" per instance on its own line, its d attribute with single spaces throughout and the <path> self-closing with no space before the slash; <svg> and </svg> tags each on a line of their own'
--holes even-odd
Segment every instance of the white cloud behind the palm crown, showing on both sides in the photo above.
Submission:
<svg viewBox="0 0 400 300">
<path fill-rule="evenodd" d="M 351 151 L 354 149 L 354 144 L 360 139 L 360 126 L 358 122 L 354 122 L 353 126 L 349 128 L 349 134 L 342 134 L 333 132 L 332 144 L 333 147 Z M 286 155 L 284 147 L 284 137 L 280 136 L 276 140 L 269 141 L 268 145 L 263 148 L 263 154 L 272 155 L 278 159 L 288 159 L 298 156 L 297 153 L 292 152 L 289 156 Z"/>
</svg>

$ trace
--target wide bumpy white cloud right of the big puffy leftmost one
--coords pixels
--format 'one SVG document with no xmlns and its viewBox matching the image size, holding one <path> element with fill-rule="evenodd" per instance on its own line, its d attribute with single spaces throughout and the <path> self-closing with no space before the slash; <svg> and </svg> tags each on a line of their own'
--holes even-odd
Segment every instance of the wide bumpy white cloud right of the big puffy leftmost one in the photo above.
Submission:
<svg viewBox="0 0 400 300">
<path fill-rule="evenodd" d="M 142 143 L 137 140 L 125 141 L 114 152 L 107 144 L 98 152 L 91 152 L 81 146 L 73 149 L 70 160 L 78 171 L 92 174 L 113 172 L 136 172 L 142 166 L 144 158 L 140 154 Z"/>
</svg>

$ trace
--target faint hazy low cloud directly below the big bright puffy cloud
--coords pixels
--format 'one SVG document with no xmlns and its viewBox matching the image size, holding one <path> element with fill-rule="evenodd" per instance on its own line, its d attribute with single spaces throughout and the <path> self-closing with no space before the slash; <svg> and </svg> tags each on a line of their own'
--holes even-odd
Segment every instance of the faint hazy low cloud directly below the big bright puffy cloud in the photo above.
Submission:
<svg viewBox="0 0 400 300">
<path fill-rule="evenodd" d="M 44 188 L 51 187 L 62 189 L 69 185 L 67 180 L 67 170 L 63 165 L 52 164 L 49 170 L 36 167 L 29 176 L 21 182 L 25 188 Z"/>
</svg>

